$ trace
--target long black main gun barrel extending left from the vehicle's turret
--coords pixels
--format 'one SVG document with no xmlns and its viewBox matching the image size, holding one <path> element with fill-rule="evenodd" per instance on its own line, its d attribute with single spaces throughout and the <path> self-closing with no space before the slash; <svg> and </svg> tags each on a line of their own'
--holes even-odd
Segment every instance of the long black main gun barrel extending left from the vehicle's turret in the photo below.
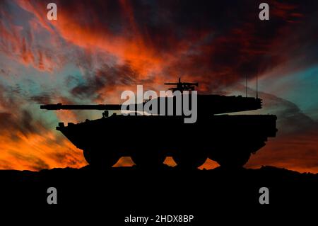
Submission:
<svg viewBox="0 0 318 226">
<path fill-rule="evenodd" d="M 121 104 L 87 104 L 87 105 L 73 105 L 73 104 L 46 104 L 41 105 L 41 109 L 46 110 L 120 110 Z"/>
</svg>

